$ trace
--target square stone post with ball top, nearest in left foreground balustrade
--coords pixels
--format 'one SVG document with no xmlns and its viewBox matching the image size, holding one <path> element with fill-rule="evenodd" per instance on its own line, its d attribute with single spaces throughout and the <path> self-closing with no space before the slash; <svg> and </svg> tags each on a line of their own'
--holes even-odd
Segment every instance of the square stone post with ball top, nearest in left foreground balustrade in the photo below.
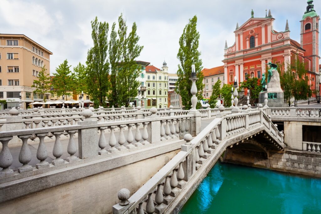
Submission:
<svg viewBox="0 0 321 214">
<path fill-rule="evenodd" d="M 93 121 L 90 117 L 93 115 L 89 109 L 82 111 L 82 116 L 85 117 L 84 121 L 79 121 L 79 125 L 97 124 L 97 121 Z M 91 158 L 98 156 L 98 128 L 87 128 L 78 130 L 78 150 L 79 158 Z"/>
</svg>

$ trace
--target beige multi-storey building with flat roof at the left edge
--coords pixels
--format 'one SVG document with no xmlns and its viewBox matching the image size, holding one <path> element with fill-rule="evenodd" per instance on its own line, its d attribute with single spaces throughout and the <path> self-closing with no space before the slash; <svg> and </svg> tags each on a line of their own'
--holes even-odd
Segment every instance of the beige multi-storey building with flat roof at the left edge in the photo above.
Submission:
<svg viewBox="0 0 321 214">
<path fill-rule="evenodd" d="M 43 66 L 50 73 L 50 55 L 51 51 L 23 34 L 0 34 L 0 100 L 6 100 L 8 108 L 19 107 L 20 93 L 22 108 L 43 101 L 31 85 Z"/>
</svg>

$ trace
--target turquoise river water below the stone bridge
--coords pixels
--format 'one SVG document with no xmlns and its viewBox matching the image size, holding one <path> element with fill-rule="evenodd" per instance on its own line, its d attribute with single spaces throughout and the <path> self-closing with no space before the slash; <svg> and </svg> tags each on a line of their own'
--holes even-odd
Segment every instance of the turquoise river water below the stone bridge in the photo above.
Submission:
<svg viewBox="0 0 321 214">
<path fill-rule="evenodd" d="M 321 179 L 219 161 L 180 214 L 321 214 Z"/>
</svg>

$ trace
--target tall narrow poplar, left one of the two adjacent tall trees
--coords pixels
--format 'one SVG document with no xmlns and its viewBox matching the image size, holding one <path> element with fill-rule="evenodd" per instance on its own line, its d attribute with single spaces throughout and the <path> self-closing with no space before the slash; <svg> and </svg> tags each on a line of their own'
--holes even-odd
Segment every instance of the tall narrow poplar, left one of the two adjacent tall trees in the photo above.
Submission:
<svg viewBox="0 0 321 214">
<path fill-rule="evenodd" d="M 93 99 L 95 107 L 106 106 L 109 90 L 108 30 L 107 22 L 98 22 L 97 17 L 91 21 L 91 38 L 94 46 L 87 55 L 87 92 Z"/>
</svg>

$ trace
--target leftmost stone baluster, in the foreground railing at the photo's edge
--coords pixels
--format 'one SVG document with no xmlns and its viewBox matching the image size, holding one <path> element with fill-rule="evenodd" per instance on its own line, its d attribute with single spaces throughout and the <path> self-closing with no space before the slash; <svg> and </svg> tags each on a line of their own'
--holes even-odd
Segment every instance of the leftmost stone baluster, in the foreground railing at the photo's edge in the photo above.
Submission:
<svg viewBox="0 0 321 214">
<path fill-rule="evenodd" d="M 13 170 L 9 168 L 12 165 L 12 155 L 8 147 L 8 142 L 12 139 L 12 137 L 2 137 L 0 141 L 2 143 L 2 149 L 0 152 L 0 167 L 2 170 L 0 171 L 0 177 L 10 175 Z"/>
</svg>

